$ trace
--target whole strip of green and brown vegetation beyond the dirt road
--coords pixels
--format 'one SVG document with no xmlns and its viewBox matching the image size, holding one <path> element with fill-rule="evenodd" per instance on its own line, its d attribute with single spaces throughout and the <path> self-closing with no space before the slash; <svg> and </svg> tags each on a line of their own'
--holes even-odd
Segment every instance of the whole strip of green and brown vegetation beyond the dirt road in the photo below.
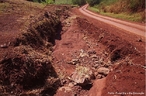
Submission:
<svg viewBox="0 0 146 96">
<path fill-rule="evenodd" d="M 86 3 L 89 9 L 103 15 L 145 22 L 145 0 L 28 0 L 45 4 L 74 4 L 82 6 Z"/>
</svg>

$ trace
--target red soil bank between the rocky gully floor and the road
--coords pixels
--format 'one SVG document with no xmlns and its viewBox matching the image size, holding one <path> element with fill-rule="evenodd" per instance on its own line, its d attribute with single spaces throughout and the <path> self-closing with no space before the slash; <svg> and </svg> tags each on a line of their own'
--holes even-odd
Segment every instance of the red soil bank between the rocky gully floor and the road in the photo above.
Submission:
<svg viewBox="0 0 146 96">
<path fill-rule="evenodd" d="M 84 34 L 90 38 L 94 38 L 97 43 L 105 46 L 103 54 L 104 61 L 110 61 L 107 68 L 112 67 L 106 77 L 105 83 L 103 79 L 97 79 L 93 87 L 89 91 L 90 96 L 97 96 L 101 85 L 104 85 L 101 96 L 111 95 L 142 95 L 145 90 L 145 55 L 143 50 L 134 44 L 122 39 L 121 37 L 108 32 L 102 28 L 98 28 L 89 23 L 86 19 L 77 18 L 79 27 L 84 29 Z M 143 41 L 138 41 L 140 46 Z M 108 62 L 105 62 L 108 64 Z M 103 80 L 103 81 L 102 81 Z M 100 84 L 99 84 L 100 83 Z M 103 87 L 102 85 L 102 87 Z M 130 95 L 131 94 L 131 95 Z"/>
</svg>

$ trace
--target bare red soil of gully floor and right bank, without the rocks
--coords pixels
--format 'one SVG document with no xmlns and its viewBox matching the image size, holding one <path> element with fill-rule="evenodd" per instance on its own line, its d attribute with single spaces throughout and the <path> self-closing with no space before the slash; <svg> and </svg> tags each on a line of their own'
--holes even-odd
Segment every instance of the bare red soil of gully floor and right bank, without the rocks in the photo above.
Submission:
<svg viewBox="0 0 146 96">
<path fill-rule="evenodd" d="M 91 89 L 89 87 L 89 89 L 83 88 L 83 90 L 74 88 L 69 90 L 70 83 L 65 81 L 67 82 L 66 87 L 60 89 L 65 93 L 59 90 L 57 96 L 60 94 L 65 94 L 64 96 L 72 94 L 79 96 L 133 96 L 136 93 L 144 96 L 144 38 L 86 17 L 77 9 L 73 9 L 72 12 L 81 18 L 74 18 L 69 30 L 63 32 L 62 39 L 56 41 L 52 55 L 55 58 L 53 64 L 57 66 L 57 73 L 65 75 L 64 77 L 71 76 L 77 66 L 69 65 L 67 62 L 78 58 L 80 50 L 84 50 L 85 53 L 95 51 L 96 55 L 103 59 L 101 66 L 109 68 L 111 72 L 103 79 L 99 79 L 97 75 Z M 71 22 L 71 20 L 69 21 Z M 90 56 L 83 58 L 79 57 L 81 62 L 78 65 L 88 66 L 96 74 L 97 69 L 101 67 L 100 63 L 98 63 L 98 67 L 95 67 L 95 61 Z"/>
</svg>

